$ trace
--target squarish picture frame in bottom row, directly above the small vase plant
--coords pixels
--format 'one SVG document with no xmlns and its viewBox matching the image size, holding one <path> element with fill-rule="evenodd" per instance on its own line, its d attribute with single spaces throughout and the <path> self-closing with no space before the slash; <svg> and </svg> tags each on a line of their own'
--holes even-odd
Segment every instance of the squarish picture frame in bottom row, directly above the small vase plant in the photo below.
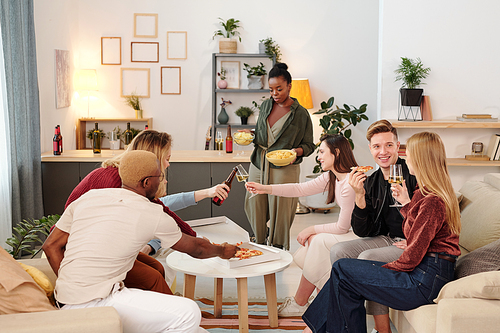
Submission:
<svg viewBox="0 0 500 333">
<path fill-rule="evenodd" d="M 120 96 L 128 97 L 132 94 L 150 97 L 150 69 L 149 68 L 121 68 Z"/>
</svg>

